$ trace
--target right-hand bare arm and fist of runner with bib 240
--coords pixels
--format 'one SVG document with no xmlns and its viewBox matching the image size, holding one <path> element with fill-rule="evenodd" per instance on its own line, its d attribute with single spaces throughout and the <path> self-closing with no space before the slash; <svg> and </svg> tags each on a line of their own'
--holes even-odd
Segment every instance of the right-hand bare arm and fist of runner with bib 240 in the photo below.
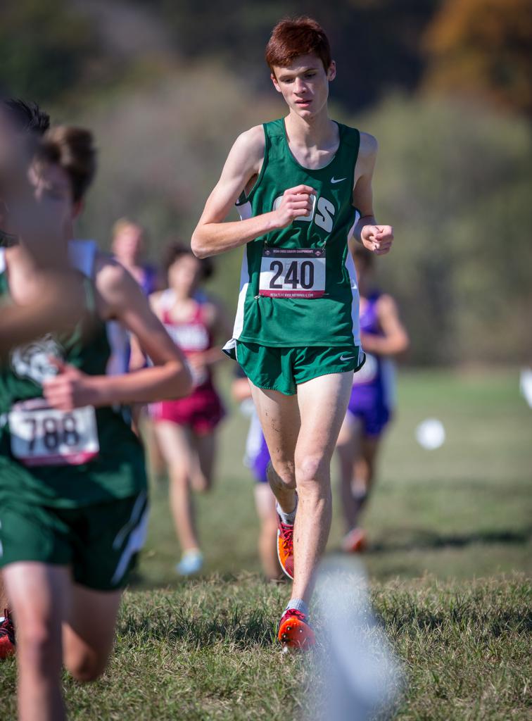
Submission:
<svg viewBox="0 0 532 721">
<path fill-rule="evenodd" d="M 376 255 L 385 255 L 391 249 L 394 229 L 378 225 L 373 214 L 373 171 L 377 159 L 378 143 L 368 133 L 360 133 L 360 149 L 355 167 L 353 205 L 360 211 L 360 219 L 353 236 Z"/>
</svg>

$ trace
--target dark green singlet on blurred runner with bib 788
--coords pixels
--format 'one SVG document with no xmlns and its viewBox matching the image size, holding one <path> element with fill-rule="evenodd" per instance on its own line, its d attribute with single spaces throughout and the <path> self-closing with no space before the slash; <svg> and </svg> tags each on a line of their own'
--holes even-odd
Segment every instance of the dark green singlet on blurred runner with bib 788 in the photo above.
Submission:
<svg viewBox="0 0 532 721">
<path fill-rule="evenodd" d="M 94 301 L 94 289 L 89 280 L 87 285 L 88 297 Z M 0 249 L 0 301 L 8 297 L 4 253 Z M 82 322 L 68 337 L 48 335 L 12 350 L 9 358 L 0 361 L 0 508 L 10 498 L 53 508 L 81 508 L 130 497 L 146 489 L 143 449 L 120 409 L 90 409 L 96 423 L 93 438 L 88 436 L 84 447 L 82 444 L 80 447 L 80 443 L 76 446 L 76 442 L 81 441 L 79 431 L 83 426 L 76 428 L 79 420 L 75 414 L 61 417 L 48 410 L 40 410 L 37 415 L 31 410 L 23 410 L 18 415 L 13 412 L 18 407 L 43 405 L 43 379 L 55 374 L 50 356 L 91 376 L 105 375 L 110 357 L 105 323 L 96 316 L 94 308 L 87 316 L 89 334 Z M 16 425 L 15 416 L 18 418 Z M 81 421 L 84 421 L 84 415 Z M 22 434 L 19 446 L 15 446 L 18 451 L 14 451 L 12 443 L 12 435 L 16 435 L 12 433 L 13 428 Z M 39 433 L 40 438 L 37 438 Z M 94 441 L 95 437 L 97 441 Z M 89 458 L 91 453 L 87 449 L 94 451 L 94 443 L 99 446 L 99 451 Z M 32 457 L 39 448 L 46 459 L 45 464 Z M 69 451 L 72 451 L 70 456 Z M 61 454 L 68 461 L 61 458 Z M 24 461 L 20 460 L 22 456 Z M 80 462 L 86 456 L 87 461 Z"/>
</svg>

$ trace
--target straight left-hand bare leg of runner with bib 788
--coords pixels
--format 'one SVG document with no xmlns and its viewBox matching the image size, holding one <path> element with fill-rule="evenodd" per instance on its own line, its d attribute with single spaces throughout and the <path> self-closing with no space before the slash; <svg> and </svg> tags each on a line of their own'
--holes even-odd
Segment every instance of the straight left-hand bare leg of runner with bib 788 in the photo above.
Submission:
<svg viewBox="0 0 532 721">
<path fill-rule="evenodd" d="M 19 629 L 19 720 L 61 721 L 61 622 L 70 600 L 70 572 L 30 561 L 12 563 L 3 572 Z"/>
</svg>

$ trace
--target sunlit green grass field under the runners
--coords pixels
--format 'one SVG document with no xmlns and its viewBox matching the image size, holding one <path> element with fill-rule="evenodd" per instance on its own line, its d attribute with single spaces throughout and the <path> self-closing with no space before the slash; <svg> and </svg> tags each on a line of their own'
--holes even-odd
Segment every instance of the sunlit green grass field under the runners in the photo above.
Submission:
<svg viewBox="0 0 532 721">
<path fill-rule="evenodd" d="M 426 417 L 447 430 L 436 451 L 414 441 Z M 241 466 L 246 428 L 238 414 L 226 421 L 218 487 L 199 499 L 202 578 L 175 578 L 165 492 L 154 488 L 110 668 L 91 686 L 65 676 L 72 718 L 312 717 L 311 686 L 322 683 L 312 655 L 287 658 L 273 642 L 288 586 L 260 578 L 252 482 Z M 389 716 L 530 719 L 532 412 L 517 372 L 404 373 L 379 475 L 364 562 L 405 679 Z M 341 534 L 336 516 L 332 551 Z M 14 662 L 0 674 L 2 718 L 14 719 Z"/>
</svg>

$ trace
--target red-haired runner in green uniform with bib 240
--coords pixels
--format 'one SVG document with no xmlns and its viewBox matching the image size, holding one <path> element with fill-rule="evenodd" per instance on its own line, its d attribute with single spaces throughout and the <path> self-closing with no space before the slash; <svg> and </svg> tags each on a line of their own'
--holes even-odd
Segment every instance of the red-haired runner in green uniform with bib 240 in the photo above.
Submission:
<svg viewBox="0 0 532 721">
<path fill-rule="evenodd" d="M 247 244 L 228 350 L 252 386 L 272 458 L 280 562 L 293 576 L 279 639 L 306 647 L 314 642 L 314 570 L 331 523 L 330 461 L 363 363 L 347 238 L 354 233 L 383 255 L 393 231 L 373 216 L 375 138 L 327 113 L 336 66 L 322 28 L 283 20 L 266 60 L 288 116 L 236 140 L 192 248 L 205 257 Z M 236 201 L 241 221 L 224 223 Z"/>
</svg>

